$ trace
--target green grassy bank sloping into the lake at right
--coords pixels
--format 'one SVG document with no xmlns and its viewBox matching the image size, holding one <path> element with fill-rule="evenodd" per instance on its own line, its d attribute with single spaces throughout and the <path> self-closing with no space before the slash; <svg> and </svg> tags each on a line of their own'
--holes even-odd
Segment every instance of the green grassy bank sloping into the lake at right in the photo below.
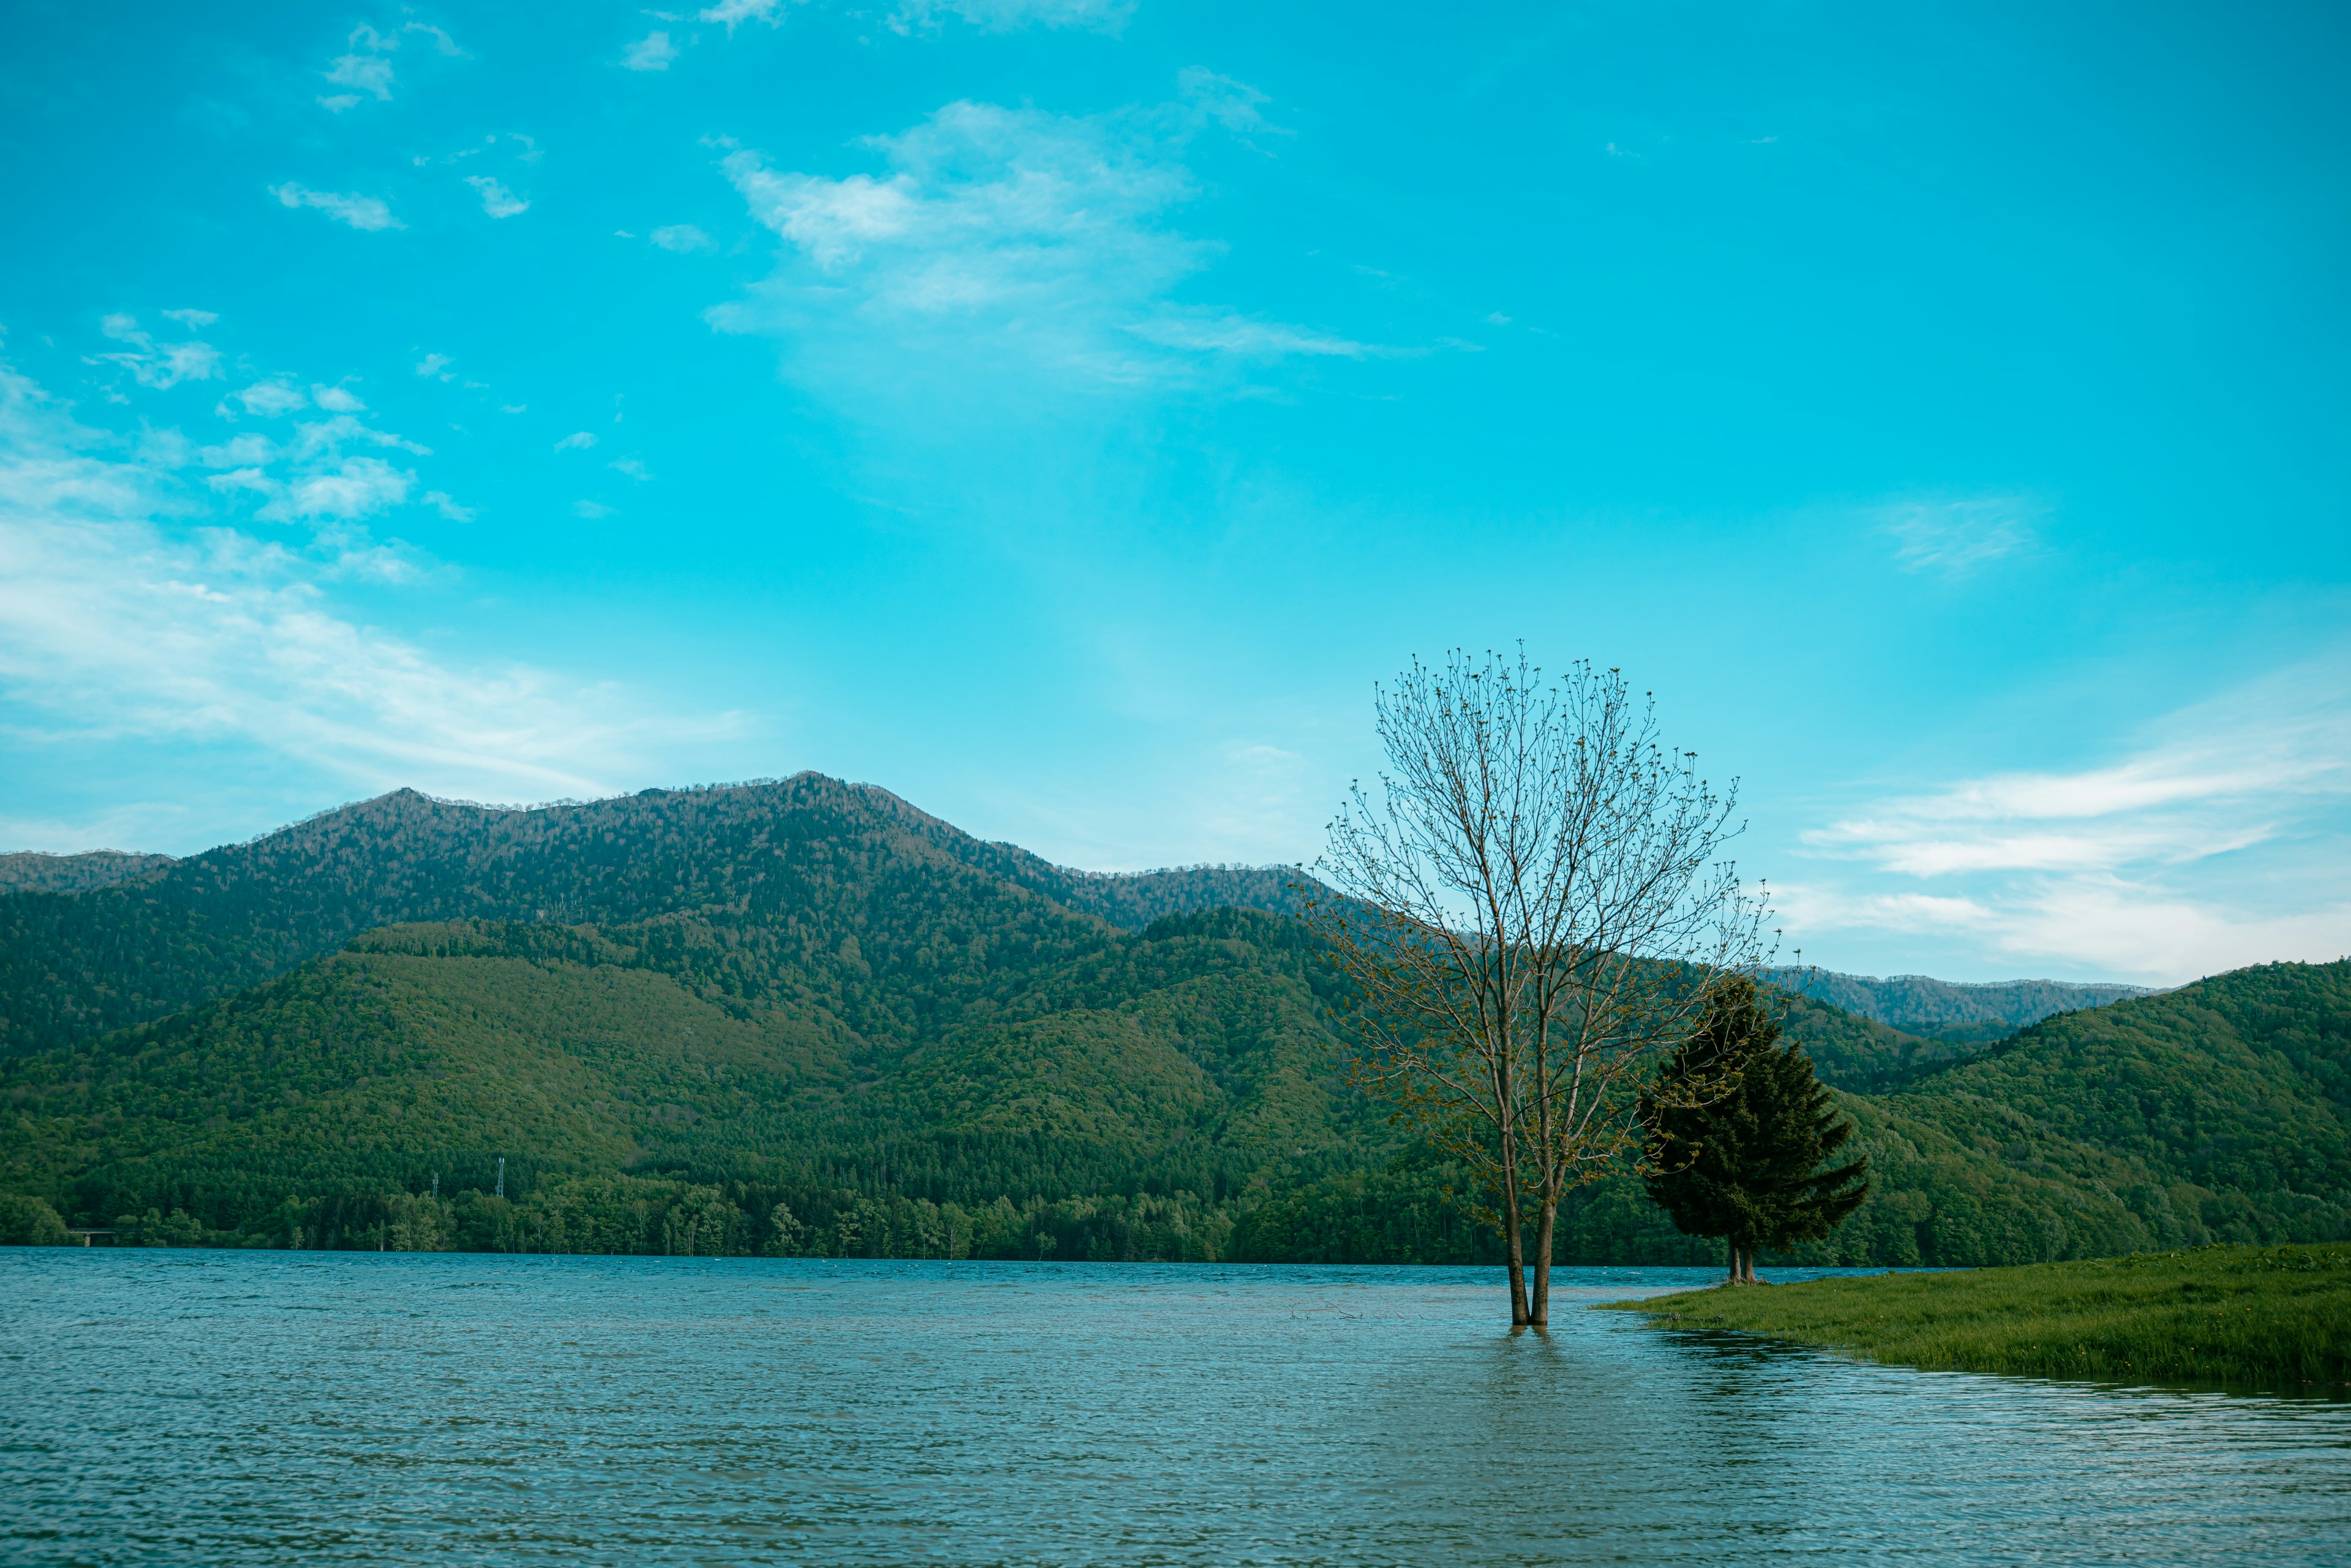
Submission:
<svg viewBox="0 0 2351 1568">
<path fill-rule="evenodd" d="M 1716 1286 L 1639 1302 L 1669 1328 L 1733 1328 L 1937 1371 L 2351 1385 L 2351 1246 L 2208 1246 L 2090 1262 Z"/>
</svg>

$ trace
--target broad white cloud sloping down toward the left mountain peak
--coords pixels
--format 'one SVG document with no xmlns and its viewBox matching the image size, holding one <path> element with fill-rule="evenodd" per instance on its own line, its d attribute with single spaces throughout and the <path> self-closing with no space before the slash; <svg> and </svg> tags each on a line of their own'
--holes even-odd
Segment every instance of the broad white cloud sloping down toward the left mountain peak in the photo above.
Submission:
<svg viewBox="0 0 2351 1568">
<path fill-rule="evenodd" d="M 193 741 L 303 764 L 341 788 L 515 799 L 600 795 L 649 748 L 738 733 L 614 686 L 451 663 L 339 609 L 346 576 L 402 576 L 397 548 L 327 559 L 209 522 L 143 463 L 0 367 L 0 696 L 19 736 Z M 47 717 L 40 717 L 47 715 Z"/>
</svg>

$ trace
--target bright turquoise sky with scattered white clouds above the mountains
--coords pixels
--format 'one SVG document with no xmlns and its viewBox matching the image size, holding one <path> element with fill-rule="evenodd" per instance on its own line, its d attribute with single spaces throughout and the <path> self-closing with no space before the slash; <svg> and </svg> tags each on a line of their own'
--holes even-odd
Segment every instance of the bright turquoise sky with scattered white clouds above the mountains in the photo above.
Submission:
<svg viewBox="0 0 2351 1568">
<path fill-rule="evenodd" d="M 1803 961 L 2351 952 L 2337 7 L 7 26 L 0 849 L 816 769 L 1312 863 L 1523 644 Z"/>
</svg>

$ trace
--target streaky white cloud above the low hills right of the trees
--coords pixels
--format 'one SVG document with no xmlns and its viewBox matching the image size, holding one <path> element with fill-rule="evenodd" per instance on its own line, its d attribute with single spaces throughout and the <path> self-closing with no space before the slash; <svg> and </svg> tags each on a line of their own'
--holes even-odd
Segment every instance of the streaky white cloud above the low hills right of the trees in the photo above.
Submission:
<svg viewBox="0 0 2351 1568">
<path fill-rule="evenodd" d="M 2116 762 L 1968 778 L 1806 832 L 1815 858 L 1874 882 L 1803 882 L 1780 903 L 1794 929 L 1965 933 L 2020 959 L 2184 980 L 2351 952 L 2346 830 L 2351 651 L 2337 649 L 2170 715 Z"/>
</svg>

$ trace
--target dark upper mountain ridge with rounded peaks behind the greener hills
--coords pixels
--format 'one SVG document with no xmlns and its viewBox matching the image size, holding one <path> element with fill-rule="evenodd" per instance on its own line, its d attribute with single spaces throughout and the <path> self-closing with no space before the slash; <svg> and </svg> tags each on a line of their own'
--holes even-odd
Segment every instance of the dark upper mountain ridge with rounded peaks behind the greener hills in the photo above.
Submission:
<svg viewBox="0 0 2351 1568">
<path fill-rule="evenodd" d="M 1291 907 L 1286 879 L 1072 872 L 818 773 L 531 811 L 397 790 L 118 886 L 0 898 L 0 1053 L 162 1018 L 402 922 L 672 919 L 663 940 L 724 947 L 710 954 L 719 983 L 757 990 L 797 961 L 788 947 L 868 929 L 912 940 L 893 954 L 912 959 L 926 905 L 964 912 L 959 940 L 1020 950 L 1100 936 L 1072 914 L 1143 926 L 1187 907 Z"/>
</svg>

